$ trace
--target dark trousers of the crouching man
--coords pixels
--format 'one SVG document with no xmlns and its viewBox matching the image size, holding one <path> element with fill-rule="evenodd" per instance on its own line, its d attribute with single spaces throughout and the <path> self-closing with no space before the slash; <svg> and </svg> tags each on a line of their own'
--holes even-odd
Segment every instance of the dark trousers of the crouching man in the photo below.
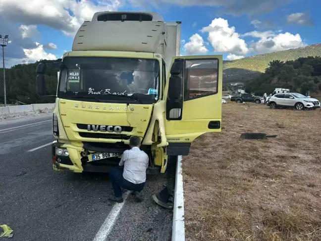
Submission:
<svg viewBox="0 0 321 241">
<path fill-rule="evenodd" d="M 122 171 L 116 168 L 113 168 L 109 172 L 110 182 L 116 197 L 121 197 L 121 189 L 120 187 L 129 190 L 129 191 L 141 191 L 145 186 L 145 182 L 134 184 L 130 181 L 127 181 L 122 176 Z"/>
</svg>

